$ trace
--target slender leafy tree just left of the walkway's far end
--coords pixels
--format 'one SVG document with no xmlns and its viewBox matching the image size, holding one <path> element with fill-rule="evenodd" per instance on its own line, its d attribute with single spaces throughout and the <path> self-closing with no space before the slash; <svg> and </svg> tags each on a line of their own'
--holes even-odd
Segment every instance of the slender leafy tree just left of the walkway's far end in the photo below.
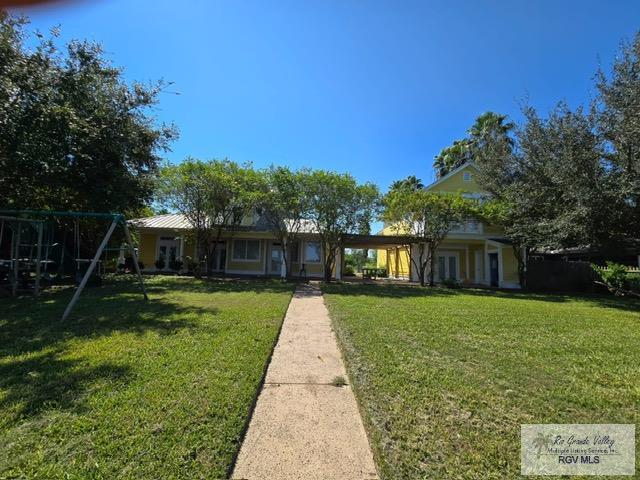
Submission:
<svg viewBox="0 0 640 480">
<path fill-rule="evenodd" d="M 263 172 L 263 186 L 258 201 L 262 215 L 280 242 L 285 276 L 290 274 L 288 246 L 295 243 L 305 226 L 308 201 L 305 195 L 306 171 L 293 172 L 288 167 L 271 166 Z"/>
</svg>

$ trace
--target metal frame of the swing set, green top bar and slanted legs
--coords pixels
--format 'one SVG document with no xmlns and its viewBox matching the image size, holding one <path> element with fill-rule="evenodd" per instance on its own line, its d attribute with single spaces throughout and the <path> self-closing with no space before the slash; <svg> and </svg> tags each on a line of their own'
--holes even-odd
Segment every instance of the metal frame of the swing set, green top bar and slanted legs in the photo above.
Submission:
<svg viewBox="0 0 640 480">
<path fill-rule="evenodd" d="M 100 257 L 102 256 L 102 253 L 105 251 L 107 244 L 109 242 L 109 239 L 113 235 L 113 232 L 115 231 L 118 225 L 122 225 L 124 228 L 126 244 L 129 247 L 129 250 L 131 252 L 133 265 L 134 265 L 138 280 L 140 282 L 140 288 L 142 289 L 142 295 L 145 300 L 149 300 L 149 297 L 147 295 L 147 290 L 144 285 L 144 280 L 142 278 L 142 272 L 140 271 L 140 265 L 138 264 L 138 255 L 136 253 L 133 240 L 131 238 L 131 232 L 129 231 L 129 226 L 127 225 L 127 220 L 125 216 L 122 215 L 121 213 L 70 212 L 70 211 L 64 212 L 64 211 L 53 211 L 53 210 L 0 210 L 0 220 L 3 221 L 3 225 L 4 225 L 4 222 L 7 222 L 7 221 L 16 222 L 19 225 L 17 229 L 17 235 L 16 234 L 12 235 L 12 249 L 11 249 L 12 250 L 11 251 L 11 256 L 12 256 L 11 267 L 13 268 L 13 271 L 14 271 L 12 293 L 14 296 L 16 294 L 17 281 L 18 281 L 18 270 L 19 270 L 20 259 L 17 257 L 19 256 L 18 253 L 19 253 L 19 246 L 20 246 L 20 230 L 21 230 L 20 225 L 22 223 L 30 223 L 31 225 L 35 225 L 38 232 L 38 240 L 36 244 L 37 254 L 36 254 L 36 260 L 35 260 L 36 274 L 35 274 L 34 294 L 39 295 L 40 293 L 40 277 L 41 277 L 41 263 L 42 263 L 42 258 L 41 258 L 42 236 L 43 236 L 45 220 L 36 220 L 33 218 L 27 218 L 27 217 L 37 217 L 37 218 L 66 217 L 66 218 L 75 218 L 76 220 L 81 218 L 111 220 L 109 228 L 107 229 L 107 232 L 105 233 L 104 237 L 102 238 L 102 241 L 100 242 L 100 246 L 96 250 L 95 255 L 91 259 L 91 263 L 87 267 L 87 270 L 84 273 L 82 280 L 80 281 L 80 284 L 76 288 L 75 292 L 73 293 L 73 297 L 71 297 L 71 300 L 67 304 L 67 307 L 64 313 L 62 314 L 62 321 L 66 320 L 69 317 L 69 314 L 71 313 L 71 311 L 73 310 L 73 307 L 75 306 L 78 299 L 80 298 L 82 291 L 86 287 L 89 281 L 89 278 L 91 277 L 96 266 L 100 262 Z M 14 240 L 15 236 L 17 236 L 17 240 Z"/>
</svg>

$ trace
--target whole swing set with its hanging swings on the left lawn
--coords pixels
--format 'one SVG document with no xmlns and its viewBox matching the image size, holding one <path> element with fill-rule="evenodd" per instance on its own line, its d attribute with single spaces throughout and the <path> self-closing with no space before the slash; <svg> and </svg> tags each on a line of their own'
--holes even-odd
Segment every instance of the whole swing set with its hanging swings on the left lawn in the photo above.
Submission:
<svg viewBox="0 0 640 480">
<path fill-rule="evenodd" d="M 0 294 L 8 286 L 13 296 L 16 296 L 19 292 L 32 292 L 36 296 L 40 295 L 43 282 L 51 284 L 54 281 L 51 270 L 56 264 L 58 273 L 55 278 L 63 276 L 65 253 L 67 253 L 67 231 L 64 230 L 62 232 L 62 243 L 56 242 L 57 223 L 54 221 L 55 219 L 73 220 L 73 256 L 75 257 L 73 262 L 75 263 L 77 288 L 62 315 L 62 320 L 66 320 L 69 316 L 92 276 L 95 275 L 93 278 L 100 278 L 102 273 L 100 272 L 100 266 L 106 263 L 101 260 L 103 254 L 106 257 L 107 252 L 112 250 L 119 252 L 117 264 L 123 265 L 125 263 L 125 250 L 129 249 L 142 294 L 144 299 L 148 300 L 138 264 L 138 255 L 124 215 L 119 213 L 57 212 L 50 210 L 0 210 L 0 256 L 8 253 L 8 258 L 0 258 Z M 82 258 L 82 250 L 80 248 L 80 221 L 82 219 L 107 220 L 111 222 L 92 258 Z M 118 225 L 121 225 L 124 229 L 126 245 L 109 248 L 107 245 Z M 9 239 L 8 249 L 4 245 L 7 238 Z M 57 253 L 58 255 L 56 255 Z M 54 260 L 54 258 L 59 258 L 59 261 Z"/>
</svg>

